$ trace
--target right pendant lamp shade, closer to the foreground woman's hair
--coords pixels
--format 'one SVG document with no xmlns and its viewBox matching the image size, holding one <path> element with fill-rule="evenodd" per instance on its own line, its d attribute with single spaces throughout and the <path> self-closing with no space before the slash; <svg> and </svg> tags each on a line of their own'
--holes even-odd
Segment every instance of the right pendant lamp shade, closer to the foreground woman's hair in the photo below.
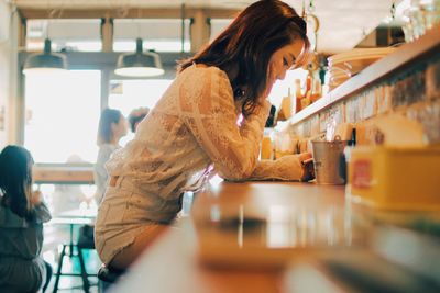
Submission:
<svg viewBox="0 0 440 293">
<path fill-rule="evenodd" d="M 114 74 L 125 77 L 154 77 L 165 72 L 156 53 L 142 52 L 142 40 L 136 40 L 136 52 L 122 54 L 118 58 Z"/>
</svg>

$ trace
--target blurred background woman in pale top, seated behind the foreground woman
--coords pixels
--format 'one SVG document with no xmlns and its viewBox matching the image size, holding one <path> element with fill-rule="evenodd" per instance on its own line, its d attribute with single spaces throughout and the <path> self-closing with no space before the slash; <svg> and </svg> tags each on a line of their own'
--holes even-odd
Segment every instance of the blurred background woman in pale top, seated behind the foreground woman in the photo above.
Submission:
<svg viewBox="0 0 440 293">
<path fill-rule="evenodd" d="M 99 119 L 98 126 L 98 158 L 95 164 L 94 177 L 97 185 L 96 201 L 99 204 L 106 192 L 109 176 L 106 170 L 106 162 L 111 154 L 120 148 L 119 140 L 127 134 L 127 120 L 119 110 L 105 109 Z"/>
</svg>

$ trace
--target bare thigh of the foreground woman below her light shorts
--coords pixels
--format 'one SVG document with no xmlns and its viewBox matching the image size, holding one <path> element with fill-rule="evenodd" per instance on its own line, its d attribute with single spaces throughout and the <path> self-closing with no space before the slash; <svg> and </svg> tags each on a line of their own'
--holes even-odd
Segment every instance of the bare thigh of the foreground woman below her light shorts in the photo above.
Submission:
<svg viewBox="0 0 440 293">
<path fill-rule="evenodd" d="M 140 235 L 136 236 L 134 243 L 122 249 L 111 260 L 109 267 L 125 270 L 138 259 L 138 257 L 163 232 L 168 228 L 168 225 L 154 224 L 145 227 Z"/>
</svg>

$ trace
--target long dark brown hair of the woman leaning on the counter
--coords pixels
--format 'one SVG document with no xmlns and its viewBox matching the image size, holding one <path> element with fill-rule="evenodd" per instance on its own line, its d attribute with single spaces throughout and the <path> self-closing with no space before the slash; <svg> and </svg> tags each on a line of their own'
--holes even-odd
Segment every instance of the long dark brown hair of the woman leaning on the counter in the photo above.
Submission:
<svg viewBox="0 0 440 293">
<path fill-rule="evenodd" d="M 231 79 L 234 99 L 242 101 L 242 113 L 249 116 L 267 83 L 267 68 L 272 55 L 279 48 L 302 40 L 309 50 L 306 22 L 288 4 L 278 0 L 261 0 L 243 10 L 235 20 L 209 45 L 193 58 L 180 63 L 179 71 L 193 63 L 216 66 Z M 297 66 L 304 61 L 298 58 Z"/>
</svg>

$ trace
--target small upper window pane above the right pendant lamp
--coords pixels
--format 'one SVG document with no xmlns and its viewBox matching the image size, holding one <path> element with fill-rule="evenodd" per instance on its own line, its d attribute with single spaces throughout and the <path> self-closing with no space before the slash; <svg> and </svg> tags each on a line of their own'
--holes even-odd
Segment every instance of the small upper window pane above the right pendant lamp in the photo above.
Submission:
<svg viewBox="0 0 440 293">
<path fill-rule="evenodd" d="M 189 20 L 185 20 L 184 52 L 190 52 Z M 144 49 L 156 52 L 182 50 L 182 20 L 148 19 L 148 20 L 114 20 L 113 50 L 135 50 L 135 40 L 144 41 Z"/>
</svg>

